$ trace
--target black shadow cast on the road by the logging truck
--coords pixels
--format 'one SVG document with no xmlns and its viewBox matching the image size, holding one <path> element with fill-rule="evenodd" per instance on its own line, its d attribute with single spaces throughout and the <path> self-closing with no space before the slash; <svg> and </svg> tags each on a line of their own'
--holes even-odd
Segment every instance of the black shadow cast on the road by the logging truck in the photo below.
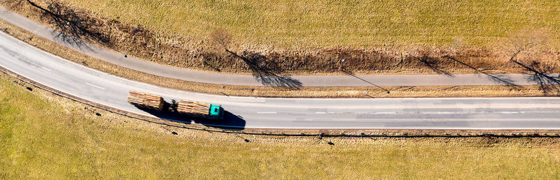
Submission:
<svg viewBox="0 0 560 180">
<path fill-rule="evenodd" d="M 211 119 L 202 119 L 197 117 L 189 117 L 186 115 L 177 114 L 175 112 L 170 111 L 157 111 L 157 110 L 150 110 L 142 107 L 138 107 L 139 110 L 143 110 L 144 112 L 148 112 L 159 119 L 165 119 L 168 121 L 176 121 L 180 123 L 188 123 L 188 124 L 201 124 L 203 126 L 208 126 L 211 128 L 220 128 L 223 130 L 244 130 L 245 129 L 245 120 L 228 112 L 227 110 L 224 111 L 223 120 L 211 120 Z"/>
</svg>

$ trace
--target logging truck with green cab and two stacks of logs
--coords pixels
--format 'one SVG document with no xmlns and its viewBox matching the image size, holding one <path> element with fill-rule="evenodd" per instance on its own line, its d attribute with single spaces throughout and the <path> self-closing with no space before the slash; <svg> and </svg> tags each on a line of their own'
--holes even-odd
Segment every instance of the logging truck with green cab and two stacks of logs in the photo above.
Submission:
<svg viewBox="0 0 560 180">
<path fill-rule="evenodd" d="M 172 103 L 166 103 L 162 96 L 137 91 L 130 91 L 127 101 L 143 109 L 155 110 L 158 112 L 170 111 L 189 117 L 200 117 L 204 119 L 223 119 L 224 113 L 220 105 L 189 100 L 179 100 L 179 102 L 172 100 Z"/>
</svg>

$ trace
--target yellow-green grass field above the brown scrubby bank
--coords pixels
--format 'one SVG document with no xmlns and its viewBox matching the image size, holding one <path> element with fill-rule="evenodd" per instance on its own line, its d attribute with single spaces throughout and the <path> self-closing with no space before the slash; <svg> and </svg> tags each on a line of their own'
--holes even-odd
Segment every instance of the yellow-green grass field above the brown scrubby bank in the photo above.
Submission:
<svg viewBox="0 0 560 180">
<path fill-rule="evenodd" d="M 560 1 L 63 0 L 165 36 L 207 38 L 227 29 L 238 43 L 294 46 L 494 46 L 519 30 L 560 38 Z"/>
</svg>

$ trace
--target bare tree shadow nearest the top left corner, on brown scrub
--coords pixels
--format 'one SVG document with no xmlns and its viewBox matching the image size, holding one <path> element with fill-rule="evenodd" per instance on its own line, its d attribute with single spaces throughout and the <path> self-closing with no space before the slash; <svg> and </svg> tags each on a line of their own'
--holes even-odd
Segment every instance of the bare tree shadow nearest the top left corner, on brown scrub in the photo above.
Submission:
<svg viewBox="0 0 560 180">
<path fill-rule="evenodd" d="M 87 48 L 88 50 L 92 50 L 91 47 L 80 39 L 110 45 L 109 37 L 104 36 L 103 33 L 92 31 L 92 28 L 100 23 L 97 20 L 87 18 L 83 13 L 63 6 L 58 1 L 48 1 L 47 8 L 38 6 L 29 0 L 27 2 L 31 6 L 42 10 L 41 18 L 48 20 L 49 23 L 54 24 L 57 29 L 60 29 L 62 33 L 58 33 L 56 36 L 62 42 L 69 43 L 80 49 Z"/>
</svg>

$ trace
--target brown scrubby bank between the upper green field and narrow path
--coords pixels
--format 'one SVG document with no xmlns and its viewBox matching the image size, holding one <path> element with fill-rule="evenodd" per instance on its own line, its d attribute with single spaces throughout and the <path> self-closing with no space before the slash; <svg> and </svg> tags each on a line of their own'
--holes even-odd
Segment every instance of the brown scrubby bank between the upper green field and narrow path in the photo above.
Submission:
<svg viewBox="0 0 560 180">
<path fill-rule="evenodd" d="M 52 10 L 52 12 L 57 12 L 56 15 L 71 18 L 71 20 L 76 21 L 73 24 L 80 28 L 66 28 L 64 20 L 56 20 L 57 18 L 52 15 L 45 15 L 38 8 L 29 6 L 28 3 L 20 3 L 18 6 L 9 6 L 9 3 L 6 3 L 6 6 L 22 15 L 27 15 L 32 20 L 55 27 L 66 33 L 85 34 L 86 36 L 80 37 L 90 43 L 109 47 L 126 54 L 132 54 L 155 63 L 195 70 L 228 73 L 253 73 L 254 70 L 246 61 L 242 61 L 232 54 L 216 52 L 210 43 L 214 41 L 211 35 L 209 35 L 210 38 L 176 36 L 169 33 L 166 29 L 158 29 L 150 25 L 147 26 L 152 28 L 146 28 L 146 24 L 137 25 L 132 23 L 130 17 L 116 18 L 113 15 L 109 17 L 104 16 L 104 13 L 90 13 L 89 10 L 96 7 L 92 3 L 85 4 L 84 1 L 35 0 L 34 2 L 38 6 Z M 80 6 L 87 8 L 78 8 L 70 3 L 80 4 Z M 153 2 L 146 1 L 144 3 Z M 130 6 L 138 5 L 138 3 L 134 3 Z M 339 4 L 337 6 L 343 5 Z M 107 6 L 106 8 L 110 7 Z M 113 9 L 109 11 L 113 12 Z M 155 12 L 161 13 L 157 8 Z M 478 13 L 484 13 L 484 11 Z M 121 22 L 120 19 L 125 20 Z M 182 20 L 176 21 L 183 22 Z M 341 21 L 344 22 L 344 20 Z M 190 21 L 184 22 L 188 24 Z M 174 24 L 174 22 L 169 23 Z M 63 25 L 61 26 L 60 24 Z M 87 26 L 80 24 L 87 24 Z M 425 25 L 431 26 L 430 24 Z M 520 28 L 517 27 L 515 29 L 518 30 Z M 528 29 L 535 29 L 535 27 L 528 27 Z M 206 29 L 205 31 L 212 30 Z M 224 29 L 220 31 L 223 34 L 228 33 Z M 533 31 L 529 32 L 533 33 Z M 341 34 L 336 35 L 341 36 Z M 495 33 L 489 33 L 488 36 L 495 36 Z M 277 38 L 281 39 L 281 37 Z M 323 38 L 335 37 L 325 36 Z M 429 37 L 426 39 L 429 39 Z M 232 40 L 236 40 L 236 38 L 232 38 Z M 492 40 L 507 43 L 505 39 Z M 394 43 L 379 47 L 328 45 L 324 47 L 288 46 L 276 48 L 267 44 L 251 45 L 251 43 L 240 46 L 239 42 L 233 42 L 230 50 L 241 55 L 241 57 L 259 62 L 258 64 L 262 65 L 260 68 L 274 69 L 275 73 L 278 74 L 339 74 L 338 68 L 342 59 L 344 59 L 344 68 L 346 70 L 358 74 L 443 73 L 441 70 L 445 73 L 473 73 L 473 68 L 486 69 L 487 73 L 523 72 L 522 68 L 507 61 L 508 55 L 505 54 L 503 49 L 498 47 L 500 43 L 497 44 L 493 46 L 470 45 L 455 47 L 453 55 L 456 60 L 468 64 L 472 68 L 443 57 L 445 54 L 448 54 L 450 47 L 453 46 L 449 45 L 449 43 L 446 43 L 446 45 Z M 547 57 L 542 59 L 543 61 L 556 61 L 559 58 L 559 54 L 554 50 L 543 50 L 538 56 Z"/>
</svg>

